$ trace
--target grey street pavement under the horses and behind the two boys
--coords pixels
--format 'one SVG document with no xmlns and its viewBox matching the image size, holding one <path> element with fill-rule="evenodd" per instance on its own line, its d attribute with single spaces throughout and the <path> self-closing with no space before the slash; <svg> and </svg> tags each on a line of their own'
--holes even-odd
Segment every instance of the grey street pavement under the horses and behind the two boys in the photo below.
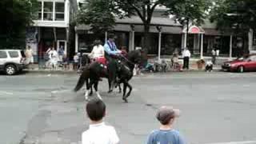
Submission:
<svg viewBox="0 0 256 144">
<path fill-rule="evenodd" d="M 89 126 L 83 90 L 74 93 L 77 74 L 0 75 L 1 144 L 77 144 Z M 256 73 L 183 72 L 144 74 L 130 82 L 129 103 L 117 90 L 99 90 L 106 123 L 122 144 L 142 144 L 158 129 L 159 106 L 174 106 L 174 124 L 190 144 L 256 143 Z M 99 136 L 100 137 L 100 136 Z"/>
</svg>

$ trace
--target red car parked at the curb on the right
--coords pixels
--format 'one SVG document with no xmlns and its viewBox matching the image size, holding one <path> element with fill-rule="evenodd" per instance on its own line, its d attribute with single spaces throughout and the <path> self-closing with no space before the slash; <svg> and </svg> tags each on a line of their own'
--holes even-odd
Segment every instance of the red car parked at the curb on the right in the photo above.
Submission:
<svg viewBox="0 0 256 144">
<path fill-rule="evenodd" d="M 224 62 L 222 70 L 225 71 L 256 71 L 256 54 L 250 54 L 243 58 L 237 58 L 234 61 Z"/>
</svg>

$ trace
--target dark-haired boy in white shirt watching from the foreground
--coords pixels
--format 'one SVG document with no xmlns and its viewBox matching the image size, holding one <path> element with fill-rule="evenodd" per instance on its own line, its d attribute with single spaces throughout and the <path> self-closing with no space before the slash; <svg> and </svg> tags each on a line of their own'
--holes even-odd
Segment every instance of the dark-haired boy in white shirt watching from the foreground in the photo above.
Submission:
<svg viewBox="0 0 256 144">
<path fill-rule="evenodd" d="M 118 144 L 118 134 L 113 126 L 106 126 L 103 117 L 106 105 L 98 98 L 91 99 L 86 105 L 86 113 L 90 118 L 89 130 L 82 133 L 82 144 Z"/>
</svg>

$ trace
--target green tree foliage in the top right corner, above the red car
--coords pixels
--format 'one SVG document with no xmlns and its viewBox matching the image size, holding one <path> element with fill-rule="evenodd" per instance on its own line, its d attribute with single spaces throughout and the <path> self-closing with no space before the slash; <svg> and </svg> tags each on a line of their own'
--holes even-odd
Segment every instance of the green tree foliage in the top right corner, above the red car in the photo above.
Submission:
<svg viewBox="0 0 256 144">
<path fill-rule="evenodd" d="M 211 13 L 211 20 L 219 30 L 247 33 L 256 29 L 256 0 L 218 0 Z"/>
</svg>

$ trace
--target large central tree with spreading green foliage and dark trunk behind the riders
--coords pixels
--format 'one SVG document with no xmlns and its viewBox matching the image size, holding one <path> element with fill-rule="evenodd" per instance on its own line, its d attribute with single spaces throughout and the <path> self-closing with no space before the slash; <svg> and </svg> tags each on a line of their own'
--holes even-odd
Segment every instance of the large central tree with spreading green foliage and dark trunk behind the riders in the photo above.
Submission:
<svg viewBox="0 0 256 144">
<path fill-rule="evenodd" d="M 176 15 L 180 22 L 185 18 L 201 24 L 203 18 L 206 18 L 207 2 L 204 0 L 87 0 L 86 5 L 79 10 L 76 22 L 90 25 L 92 31 L 100 34 L 114 27 L 115 18 L 138 15 L 144 25 L 144 47 L 149 47 L 147 44 L 150 42 L 147 41 L 150 22 L 156 6 L 166 6 L 168 14 Z"/>
</svg>

